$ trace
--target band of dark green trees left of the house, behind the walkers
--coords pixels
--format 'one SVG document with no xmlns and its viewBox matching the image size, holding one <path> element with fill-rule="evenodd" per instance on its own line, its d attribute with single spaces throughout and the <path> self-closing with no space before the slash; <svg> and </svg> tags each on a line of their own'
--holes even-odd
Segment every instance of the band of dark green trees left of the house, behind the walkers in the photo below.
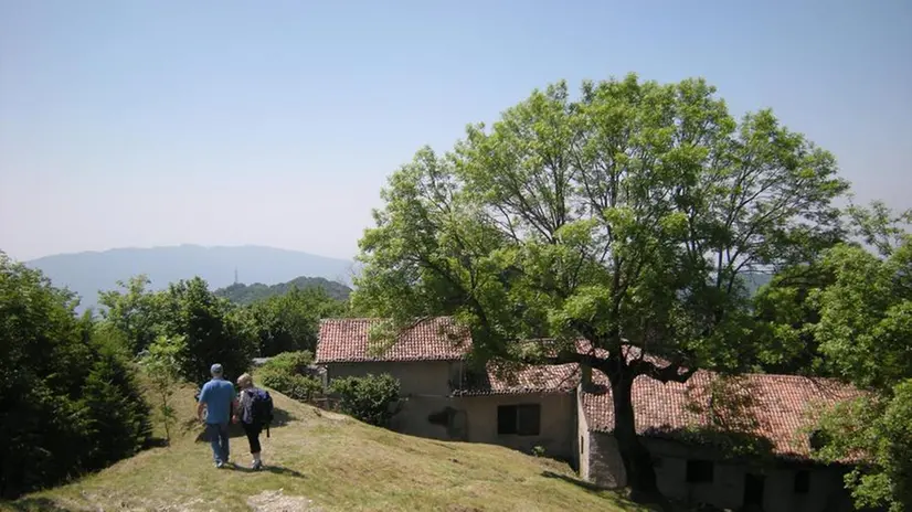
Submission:
<svg viewBox="0 0 912 512">
<path fill-rule="evenodd" d="M 213 362 L 232 377 L 254 356 L 312 352 L 320 318 L 348 311 L 320 288 L 238 306 L 201 278 L 159 291 L 145 276 L 118 285 L 100 294 L 99 313 L 79 316 L 73 294 L 0 253 L 1 498 L 136 454 L 159 414 L 169 427 L 181 382 L 201 385 Z"/>
</svg>

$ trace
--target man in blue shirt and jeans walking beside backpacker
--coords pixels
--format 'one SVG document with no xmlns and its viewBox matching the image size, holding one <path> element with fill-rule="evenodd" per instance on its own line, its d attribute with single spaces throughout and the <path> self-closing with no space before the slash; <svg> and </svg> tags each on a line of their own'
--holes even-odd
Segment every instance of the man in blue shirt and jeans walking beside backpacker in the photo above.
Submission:
<svg viewBox="0 0 912 512">
<path fill-rule="evenodd" d="M 237 407 L 237 395 L 234 392 L 234 385 L 223 378 L 224 371 L 221 364 L 213 364 L 210 372 L 212 380 L 205 383 L 200 392 L 197 415 L 200 422 L 205 423 L 205 433 L 212 445 L 215 467 L 222 468 L 229 462 L 231 455 L 227 427 L 232 412 Z"/>
</svg>

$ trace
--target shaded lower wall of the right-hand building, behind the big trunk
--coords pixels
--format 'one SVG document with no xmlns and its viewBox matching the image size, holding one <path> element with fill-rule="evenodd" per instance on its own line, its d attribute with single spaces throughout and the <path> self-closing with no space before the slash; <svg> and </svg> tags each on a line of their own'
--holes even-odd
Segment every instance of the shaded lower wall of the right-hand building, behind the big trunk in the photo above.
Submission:
<svg viewBox="0 0 912 512">
<path fill-rule="evenodd" d="M 588 459 L 584 478 L 608 488 L 626 483 L 624 466 L 614 436 L 590 433 L 583 457 Z M 659 490 L 668 498 L 689 503 L 709 503 L 723 509 L 738 509 L 744 503 L 744 481 L 751 474 L 764 477 L 763 510 L 782 512 L 838 512 L 852 510 L 842 484 L 842 472 L 835 467 L 751 467 L 746 463 L 714 461 L 711 482 L 688 482 L 689 459 L 713 460 L 714 456 L 700 447 L 661 439 L 643 439 L 653 454 Z M 795 473 L 810 472 L 807 493 L 794 492 Z"/>
</svg>

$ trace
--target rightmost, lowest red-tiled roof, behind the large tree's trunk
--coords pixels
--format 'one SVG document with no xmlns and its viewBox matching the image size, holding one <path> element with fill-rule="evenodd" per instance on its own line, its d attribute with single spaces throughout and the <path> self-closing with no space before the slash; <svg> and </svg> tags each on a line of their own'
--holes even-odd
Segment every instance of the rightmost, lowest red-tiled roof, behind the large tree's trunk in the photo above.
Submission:
<svg viewBox="0 0 912 512">
<path fill-rule="evenodd" d="M 715 414 L 722 424 L 740 423 L 742 431 L 767 440 L 774 455 L 806 459 L 810 455 L 806 429 L 819 418 L 821 406 L 859 395 L 853 387 L 828 378 L 747 374 L 722 392 L 728 396 L 721 399 L 733 396 L 743 399 L 741 412 L 731 414 L 731 409 L 718 405 L 719 399 L 711 399 L 710 386 L 718 384 L 718 378 L 717 374 L 704 371 L 694 373 L 685 384 L 662 384 L 638 376 L 633 387 L 637 434 L 674 438 L 691 428 L 711 426 Z M 593 381 L 601 384 L 602 391 L 582 396 L 588 428 L 611 433 L 614 429 L 611 387 L 600 372 L 593 372 Z"/>
</svg>

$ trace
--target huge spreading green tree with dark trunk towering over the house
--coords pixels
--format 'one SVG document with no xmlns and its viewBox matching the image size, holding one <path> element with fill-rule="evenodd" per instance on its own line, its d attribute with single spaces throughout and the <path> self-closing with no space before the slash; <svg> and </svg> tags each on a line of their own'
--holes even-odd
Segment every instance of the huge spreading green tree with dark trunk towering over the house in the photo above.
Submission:
<svg viewBox="0 0 912 512">
<path fill-rule="evenodd" d="M 601 371 L 628 482 L 656 492 L 634 380 L 740 367 L 753 352 L 741 276 L 833 243 L 836 172 L 772 111 L 733 119 L 702 79 L 586 82 L 575 99 L 561 82 L 391 177 L 353 301 L 391 327 L 454 314 L 479 361 Z"/>
</svg>

